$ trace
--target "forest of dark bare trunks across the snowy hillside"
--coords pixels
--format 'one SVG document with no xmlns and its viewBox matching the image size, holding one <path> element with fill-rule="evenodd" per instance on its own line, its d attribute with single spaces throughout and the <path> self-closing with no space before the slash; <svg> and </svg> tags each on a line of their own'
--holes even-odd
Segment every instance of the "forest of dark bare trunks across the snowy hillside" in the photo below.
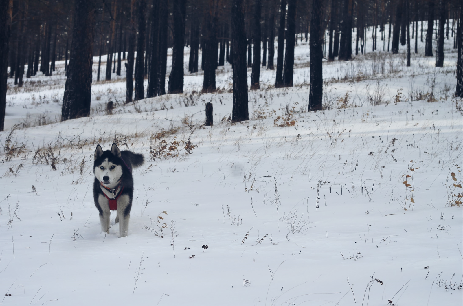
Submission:
<svg viewBox="0 0 463 306">
<path fill-rule="evenodd" d="M 233 121 L 246 120 L 246 93 L 248 87 L 260 88 L 261 69 L 276 69 L 275 87 L 293 86 L 294 45 L 309 36 L 309 110 L 320 110 L 322 62 L 349 61 L 370 51 L 365 46 L 369 27 L 374 28 L 371 51 L 397 54 L 399 44 L 406 45 L 407 66 L 419 40 L 425 42 L 424 56 L 435 56 L 436 67 L 443 67 L 444 39 L 450 37 L 458 52 L 455 94 L 461 96 L 461 6 L 459 0 L 2 0 L 0 130 L 6 78 L 21 87 L 24 78 L 53 75 L 55 62 L 62 60 L 68 81 L 61 120 L 88 116 L 93 56 L 99 56 L 96 81 L 126 77 L 125 103 L 183 93 L 185 73 L 198 71 L 203 72 L 202 92 L 214 92 L 216 69 L 229 62 Z M 185 48 L 190 49 L 188 72 Z M 169 49 L 172 69 L 166 79 Z M 107 60 L 101 62 L 104 55 Z M 106 65 L 105 75 L 100 75 L 101 65 Z M 240 82 L 247 68 L 252 69 L 249 86 Z"/>
</svg>

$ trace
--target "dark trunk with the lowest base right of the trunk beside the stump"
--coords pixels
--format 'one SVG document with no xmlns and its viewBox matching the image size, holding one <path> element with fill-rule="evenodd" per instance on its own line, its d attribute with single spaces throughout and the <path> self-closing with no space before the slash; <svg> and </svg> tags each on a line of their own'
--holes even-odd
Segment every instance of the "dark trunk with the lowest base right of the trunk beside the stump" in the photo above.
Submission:
<svg viewBox="0 0 463 306">
<path fill-rule="evenodd" d="M 312 18 L 310 20 L 310 90 L 309 111 L 322 109 L 323 69 L 322 69 L 322 18 L 323 0 L 312 0 Z"/>
</svg>

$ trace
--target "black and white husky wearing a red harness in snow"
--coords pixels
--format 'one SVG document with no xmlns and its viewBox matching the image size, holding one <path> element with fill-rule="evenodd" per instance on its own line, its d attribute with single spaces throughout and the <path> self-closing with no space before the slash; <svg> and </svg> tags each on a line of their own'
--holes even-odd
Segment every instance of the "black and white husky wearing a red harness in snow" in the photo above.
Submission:
<svg viewBox="0 0 463 306">
<path fill-rule="evenodd" d="M 101 231 L 109 234 L 109 216 L 112 210 L 117 210 L 115 223 L 119 222 L 119 237 L 125 237 L 132 207 L 132 168 L 143 164 L 143 155 L 120 151 L 113 143 L 111 150 L 106 151 L 97 145 L 94 157 L 93 198 L 100 212 Z"/>
</svg>

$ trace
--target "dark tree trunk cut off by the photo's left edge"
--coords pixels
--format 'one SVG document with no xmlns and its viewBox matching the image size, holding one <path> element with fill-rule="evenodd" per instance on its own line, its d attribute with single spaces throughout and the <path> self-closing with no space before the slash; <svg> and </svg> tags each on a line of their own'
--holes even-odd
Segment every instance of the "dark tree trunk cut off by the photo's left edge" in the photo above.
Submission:
<svg viewBox="0 0 463 306">
<path fill-rule="evenodd" d="M 5 129 L 6 81 L 8 79 L 8 42 L 11 31 L 10 0 L 0 0 L 0 131 Z"/>
</svg>

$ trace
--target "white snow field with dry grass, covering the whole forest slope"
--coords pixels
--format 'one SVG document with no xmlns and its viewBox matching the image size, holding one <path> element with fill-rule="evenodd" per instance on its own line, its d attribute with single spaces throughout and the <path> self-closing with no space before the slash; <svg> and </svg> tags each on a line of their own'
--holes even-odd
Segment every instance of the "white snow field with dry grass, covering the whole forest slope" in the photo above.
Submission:
<svg viewBox="0 0 463 306">
<path fill-rule="evenodd" d="M 299 41 L 294 87 L 275 89 L 263 69 L 250 120 L 237 124 L 230 65 L 216 93 L 200 94 L 188 48 L 184 94 L 127 106 L 124 77 L 96 82 L 94 57 L 91 116 L 65 122 L 63 62 L 21 88 L 9 79 L 0 304 L 461 306 L 453 37 L 444 68 L 420 41 L 407 68 L 405 46 L 372 52 L 370 37 L 366 56 L 324 62 L 325 111 L 307 112 Z M 145 157 L 125 238 L 119 225 L 101 233 L 92 196 L 95 147 L 113 142 Z"/>
</svg>

